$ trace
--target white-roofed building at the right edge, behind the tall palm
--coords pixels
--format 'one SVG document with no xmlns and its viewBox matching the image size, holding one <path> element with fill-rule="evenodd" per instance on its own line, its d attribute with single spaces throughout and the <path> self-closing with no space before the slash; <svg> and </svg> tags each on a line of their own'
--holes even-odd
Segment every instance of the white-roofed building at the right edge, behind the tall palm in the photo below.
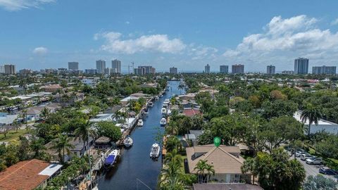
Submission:
<svg viewBox="0 0 338 190">
<path fill-rule="evenodd" d="M 306 122 L 302 122 L 301 120 L 301 111 L 298 110 L 294 113 L 294 118 L 303 123 L 304 125 L 308 126 L 308 120 Z M 318 125 L 315 123 L 311 123 L 311 133 L 321 132 L 321 131 L 329 132 L 332 134 L 338 134 L 338 124 L 334 122 L 330 122 L 327 120 L 320 119 L 318 120 Z"/>
</svg>

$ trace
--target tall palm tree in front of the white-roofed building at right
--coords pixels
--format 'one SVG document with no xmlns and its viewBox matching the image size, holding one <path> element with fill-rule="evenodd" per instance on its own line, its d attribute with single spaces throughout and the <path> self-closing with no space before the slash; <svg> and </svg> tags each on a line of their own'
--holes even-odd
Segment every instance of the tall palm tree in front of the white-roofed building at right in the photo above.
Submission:
<svg viewBox="0 0 338 190">
<path fill-rule="evenodd" d="M 311 134 L 311 124 L 314 122 L 315 125 L 318 125 L 318 121 L 322 118 L 322 113 L 318 107 L 308 104 L 303 112 L 301 113 L 301 122 L 306 122 L 308 120 L 308 137 Z"/>
</svg>

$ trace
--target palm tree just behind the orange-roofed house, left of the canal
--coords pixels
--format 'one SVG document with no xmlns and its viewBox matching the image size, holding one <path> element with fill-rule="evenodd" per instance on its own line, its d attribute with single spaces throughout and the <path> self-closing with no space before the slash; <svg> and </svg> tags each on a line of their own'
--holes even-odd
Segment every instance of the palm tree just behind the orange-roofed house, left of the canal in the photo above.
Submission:
<svg viewBox="0 0 338 190">
<path fill-rule="evenodd" d="M 51 148 L 56 148 L 58 152 L 58 158 L 60 158 L 60 163 L 64 163 L 65 153 L 70 154 L 70 148 L 74 148 L 73 144 L 69 143 L 70 138 L 63 134 L 58 134 L 58 138 L 54 139 L 53 146 Z"/>
</svg>

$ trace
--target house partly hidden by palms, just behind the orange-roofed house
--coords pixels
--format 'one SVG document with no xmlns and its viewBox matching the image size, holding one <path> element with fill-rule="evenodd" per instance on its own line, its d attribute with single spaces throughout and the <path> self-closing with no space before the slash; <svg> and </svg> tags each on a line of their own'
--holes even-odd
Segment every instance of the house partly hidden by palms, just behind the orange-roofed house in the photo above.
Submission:
<svg viewBox="0 0 338 190">
<path fill-rule="evenodd" d="M 94 139 L 92 137 L 89 137 L 89 147 L 93 144 Z M 84 155 L 84 152 L 87 151 L 87 143 L 82 141 L 80 138 L 70 137 L 70 144 L 72 144 L 73 148 L 70 148 L 70 155 L 65 155 L 65 162 L 73 158 L 73 156 L 82 157 Z M 51 161 L 58 162 L 58 151 L 56 151 L 53 147 L 53 141 L 50 141 L 48 144 L 44 145 L 46 147 L 46 153 L 49 153 L 51 156 Z"/>
</svg>

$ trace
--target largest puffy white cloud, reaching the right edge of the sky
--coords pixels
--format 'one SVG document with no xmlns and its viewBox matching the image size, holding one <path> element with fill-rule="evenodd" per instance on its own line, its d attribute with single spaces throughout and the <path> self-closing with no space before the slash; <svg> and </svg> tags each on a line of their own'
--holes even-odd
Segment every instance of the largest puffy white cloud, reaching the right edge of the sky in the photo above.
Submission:
<svg viewBox="0 0 338 190">
<path fill-rule="evenodd" d="M 307 55 L 324 58 L 330 52 L 338 52 L 338 33 L 320 30 L 316 23 L 317 19 L 306 15 L 276 16 L 263 27 L 262 33 L 244 37 L 235 49 L 228 49 L 223 56 L 259 62 L 272 56 L 278 57 L 276 59 Z"/>
</svg>

